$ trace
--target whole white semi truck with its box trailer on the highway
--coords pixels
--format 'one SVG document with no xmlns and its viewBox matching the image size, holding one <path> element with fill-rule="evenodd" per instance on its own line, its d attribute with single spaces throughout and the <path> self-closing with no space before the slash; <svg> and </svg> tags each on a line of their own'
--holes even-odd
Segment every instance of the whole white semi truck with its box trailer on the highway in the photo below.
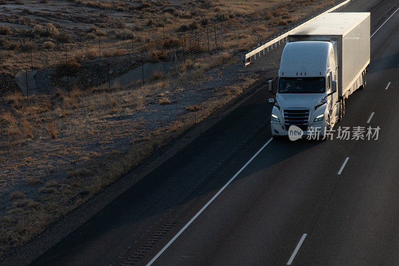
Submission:
<svg viewBox="0 0 399 266">
<path fill-rule="evenodd" d="M 370 64 L 370 13 L 327 13 L 288 36 L 269 99 L 273 137 L 291 126 L 326 135 L 345 115 L 346 99 L 366 85 Z M 296 128 L 292 127 L 292 128 Z"/>
</svg>

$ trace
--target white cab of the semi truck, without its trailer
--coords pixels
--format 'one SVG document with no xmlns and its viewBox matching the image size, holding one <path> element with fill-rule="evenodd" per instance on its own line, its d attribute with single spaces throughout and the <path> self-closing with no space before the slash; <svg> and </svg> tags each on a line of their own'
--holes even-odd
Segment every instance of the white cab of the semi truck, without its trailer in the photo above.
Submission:
<svg viewBox="0 0 399 266">
<path fill-rule="evenodd" d="M 290 126 L 321 136 L 340 118 L 335 41 L 294 41 L 286 44 L 278 72 L 275 99 L 269 99 L 272 136 L 287 136 Z M 337 48 L 336 48 L 337 49 Z"/>
</svg>

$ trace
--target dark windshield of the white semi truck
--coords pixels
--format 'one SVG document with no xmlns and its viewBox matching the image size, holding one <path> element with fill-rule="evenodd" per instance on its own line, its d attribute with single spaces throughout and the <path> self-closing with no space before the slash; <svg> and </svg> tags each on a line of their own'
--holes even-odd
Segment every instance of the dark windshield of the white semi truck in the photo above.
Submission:
<svg viewBox="0 0 399 266">
<path fill-rule="evenodd" d="M 325 77 L 280 77 L 278 93 L 323 93 Z"/>
</svg>

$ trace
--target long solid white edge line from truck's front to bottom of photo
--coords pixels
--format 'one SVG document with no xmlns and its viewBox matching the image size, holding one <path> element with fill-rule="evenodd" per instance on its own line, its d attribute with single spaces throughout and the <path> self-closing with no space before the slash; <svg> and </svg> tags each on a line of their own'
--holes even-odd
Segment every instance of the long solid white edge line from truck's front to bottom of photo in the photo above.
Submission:
<svg viewBox="0 0 399 266">
<path fill-rule="evenodd" d="M 249 159 L 248 162 L 246 162 L 246 164 L 241 167 L 241 169 L 235 173 L 235 175 L 230 178 L 230 180 L 201 208 L 201 210 L 176 234 L 176 236 L 173 237 L 173 239 L 171 239 L 171 241 L 168 242 L 168 244 L 166 244 L 166 246 L 147 264 L 147 266 L 152 265 L 168 248 L 169 246 L 171 246 L 171 244 L 180 236 L 182 235 L 182 233 L 194 222 L 194 220 L 196 220 L 200 214 L 206 209 L 206 207 L 209 206 L 209 204 L 212 203 L 212 201 L 214 201 L 214 199 L 217 198 L 217 196 L 219 196 L 219 194 L 242 172 L 242 170 L 245 169 L 245 167 L 247 167 L 247 165 L 252 162 L 253 159 L 255 159 L 256 156 L 258 156 L 258 154 L 270 143 L 270 141 L 272 141 L 273 138 L 270 138 L 263 146 L 262 148 L 260 148 L 253 156 L 251 159 Z"/>
</svg>

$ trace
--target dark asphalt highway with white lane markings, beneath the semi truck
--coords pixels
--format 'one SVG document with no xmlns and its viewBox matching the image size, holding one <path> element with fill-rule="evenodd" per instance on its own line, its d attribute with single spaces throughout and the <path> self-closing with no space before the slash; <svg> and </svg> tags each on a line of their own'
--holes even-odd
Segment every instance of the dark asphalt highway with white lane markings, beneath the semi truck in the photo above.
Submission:
<svg viewBox="0 0 399 266">
<path fill-rule="evenodd" d="M 398 8 L 343 9 L 375 34 L 334 129 L 377 140 L 270 140 L 265 86 L 32 265 L 398 265 Z"/>
</svg>

